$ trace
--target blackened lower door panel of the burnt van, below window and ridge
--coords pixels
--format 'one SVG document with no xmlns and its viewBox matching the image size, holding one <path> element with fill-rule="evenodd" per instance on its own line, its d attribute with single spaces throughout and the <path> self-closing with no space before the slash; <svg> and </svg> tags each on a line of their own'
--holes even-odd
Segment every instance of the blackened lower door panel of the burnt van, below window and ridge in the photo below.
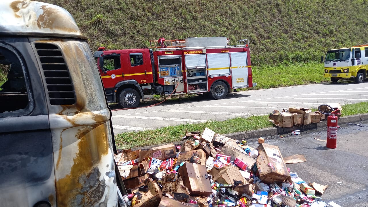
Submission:
<svg viewBox="0 0 368 207">
<path fill-rule="evenodd" d="M 3 133 L 0 140 L 0 206 L 49 201 L 55 192 L 50 131 Z"/>
</svg>

